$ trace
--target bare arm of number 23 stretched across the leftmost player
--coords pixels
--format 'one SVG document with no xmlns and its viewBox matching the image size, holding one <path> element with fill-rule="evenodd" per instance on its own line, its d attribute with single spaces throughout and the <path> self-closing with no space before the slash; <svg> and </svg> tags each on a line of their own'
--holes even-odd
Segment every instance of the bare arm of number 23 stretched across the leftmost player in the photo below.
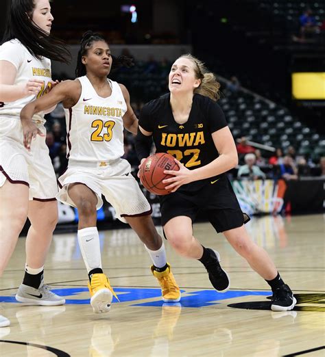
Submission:
<svg viewBox="0 0 325 357">
<path fill-rule="evenodd" d="M 23 125 L 24 146 L 27 150 L 30 149 L 32 139 L 37 134 L 43 135 L 36 127 L 36 124 L 32 122 L 34 114 L 45 111 L 62 101 L 67 101 L 72 98 L 78 89 L 79 85 L 76 81 L 64 81 L 56 85 L 46 96 L 41 96 L 36 101 L 32 101 L 23 107 L 21 110 L 21 124 Z"/>
</svg>

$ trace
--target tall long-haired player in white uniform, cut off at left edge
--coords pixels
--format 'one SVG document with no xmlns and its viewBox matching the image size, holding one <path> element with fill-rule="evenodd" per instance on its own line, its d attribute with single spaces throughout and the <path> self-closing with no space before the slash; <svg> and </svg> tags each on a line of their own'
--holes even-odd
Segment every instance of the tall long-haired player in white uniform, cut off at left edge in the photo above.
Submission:
<svg viewBox="0 0 325 357">
<path fill-rule="evenodd" d="M 12 0 L 0 47 L 0 276 L 27 216 L 26 268 L 16 299 L 38 305 L 64 304 L 43 283 L 45 257 L 57 222 L 56 175 L 45 144 L 44 113 L 32 118 L 38 136 L 23 147 L 21 109 L 56 85 L 51 60 L 67 62 L 68 51 L 51 38 L 48 0 Z M 0 326 L 10 321 L 0 316 Z"/>
</svg>

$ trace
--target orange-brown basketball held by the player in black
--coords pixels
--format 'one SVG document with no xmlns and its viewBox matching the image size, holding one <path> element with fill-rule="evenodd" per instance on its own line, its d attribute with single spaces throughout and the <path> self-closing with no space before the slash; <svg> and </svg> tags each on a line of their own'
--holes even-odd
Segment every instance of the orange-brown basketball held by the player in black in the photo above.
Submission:
<svg viewBox="0 0 325 357">
<path fill-rule="evenodd" d="M 163 180 L 172 175 L 164 174 L 165 170 L 180 170 L 173 156 L 167 153 L 158 153 L 145 159 L 140 170 L 140 180 L 143 186 L 152 194 L 164 196 L 171 191 L 165 189 Z"/>
</svg>

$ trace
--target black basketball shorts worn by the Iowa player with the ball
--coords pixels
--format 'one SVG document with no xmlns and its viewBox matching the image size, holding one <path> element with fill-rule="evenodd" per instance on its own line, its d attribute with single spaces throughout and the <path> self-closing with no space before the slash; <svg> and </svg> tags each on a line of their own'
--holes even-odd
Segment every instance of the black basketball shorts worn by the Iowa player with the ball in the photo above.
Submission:
<svg viewBox="0 0 325 357">
<path fill-rule="evenodd" d="M 199 210 L 206 213 L 208 221 L 217 233 L 241 227 L 250 220 L 246 213 L 241 211 L 239 202 L 230 181 L 221 176 L 217 182 L 208 181 L 204 187 L 195 192 L 176 191 L 166 196 L 160 196 L 161 224 L 171 218 L 185 215 L 192 222 Z"/>
</svg>

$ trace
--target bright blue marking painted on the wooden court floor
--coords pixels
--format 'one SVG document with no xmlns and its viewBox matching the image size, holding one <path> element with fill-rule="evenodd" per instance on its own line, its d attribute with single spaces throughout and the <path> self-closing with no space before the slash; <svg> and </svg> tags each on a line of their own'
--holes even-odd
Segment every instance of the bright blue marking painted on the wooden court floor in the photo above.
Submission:
<svg viewBox="0 0 325 357">
<path fill-rule="evenodd" d="M 86 287 L 80 288 L 64 288 L 64 289 L 52 289 L 53 293 L 56 293 L 60 296 L 73 297 L 77 296 L 80 293 L 88 292 Z M 149 300 L 156 297 L 161 297 L 160 289 L 140 289 L 140 288 L 115 288 L 114 291 L 119 297 L 120 302 L 135 302 L 136 300 Z M 181 290 L 182 293 L 186 291 Z M 268 296 L 271 292 L 269 291 L 227 291 L 226 293 L 218 293 L 215 290 L 199 290 L 199 291 L 190 291 L 186 293 L 186 296 L 183 296 L 180 300 L 182 307 L 191 307 L 191 308 L 201 308 L 204 306 L 217 305 L 220 304 L 218 300 L 233 299 L 235 297 L 243 297 L 249 295 L 258 295 L 258 296 Z M 0 302 L 13 302 L 18 303 L 12 296 L 0 296 Z M 115 297 L 113 297 L 112 302 L 118 302 Z M 90 299 L 66 299 L 66 304 L 89 304 Z M 140 304 L 132 304 L 132 306 L 163 306 L 166 304 L 163 300 L 152 301 L 152 302 L 142 302 Z"/>
</svg>

